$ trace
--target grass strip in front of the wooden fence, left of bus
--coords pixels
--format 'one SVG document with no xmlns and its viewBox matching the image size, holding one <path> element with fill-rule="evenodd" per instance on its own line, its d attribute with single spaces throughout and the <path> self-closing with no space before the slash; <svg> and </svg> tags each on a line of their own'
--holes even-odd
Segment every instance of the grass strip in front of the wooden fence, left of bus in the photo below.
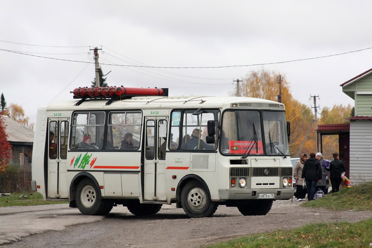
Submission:
<svg viewBox="0 0 372 248">
<path fill-rule="evenodd" d="M 20 196 L 25 196 L 25 199 L 19 199 Z M 11 196 L 0 196 L 0 207 L 11 206 L 37 206 L 49 204 L 62 204 L 68 202 L 62 201 L 44 201 L 43 196 L 36 192 L 11 193 Z"/>
</svg>

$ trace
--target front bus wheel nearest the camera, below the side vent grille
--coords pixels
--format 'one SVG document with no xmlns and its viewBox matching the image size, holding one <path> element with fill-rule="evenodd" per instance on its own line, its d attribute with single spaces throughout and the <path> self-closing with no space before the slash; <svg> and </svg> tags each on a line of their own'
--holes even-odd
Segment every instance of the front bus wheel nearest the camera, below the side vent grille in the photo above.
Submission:
<svg viewBox="0 0 372 248">
<path fill-rule="evenodd" d="M 207 190 L 198 181 L 190 181 L 183 188 L 181 193 L 181 203 L 183 211 L 191 218 L 202 218 L 212 216 L 218 204 L 211 202 Z"/>
</svg>

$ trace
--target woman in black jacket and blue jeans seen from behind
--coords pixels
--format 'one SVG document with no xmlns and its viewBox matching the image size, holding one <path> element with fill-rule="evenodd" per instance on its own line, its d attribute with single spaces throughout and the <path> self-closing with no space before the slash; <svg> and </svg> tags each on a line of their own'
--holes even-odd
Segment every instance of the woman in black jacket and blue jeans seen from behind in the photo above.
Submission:
<svg viewBox="0 0 372 248">
<path fill-rule="evenodd" d="M 307 186 L 307 199 L 314 200 L 317 182 L 322 180 L 322 168 L 315 153 L 310 153 L 310 158 L 305 161 L 301 178 L 305 178 Z"/>
</svg>

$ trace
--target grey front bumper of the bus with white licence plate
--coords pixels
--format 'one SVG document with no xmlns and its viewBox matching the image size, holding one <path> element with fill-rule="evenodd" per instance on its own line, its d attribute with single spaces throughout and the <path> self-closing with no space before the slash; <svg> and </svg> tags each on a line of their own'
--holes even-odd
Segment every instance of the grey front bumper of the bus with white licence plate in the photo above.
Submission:
<svg viewBox="0 0 372 248">
<path fill-rule="evenodd" d="M 218 190 L 219 200 L 253 200 L 272 199 L 289 200 L 293 197 L 294 188 L 288 189 L 224 189 Z"/>
</svg>

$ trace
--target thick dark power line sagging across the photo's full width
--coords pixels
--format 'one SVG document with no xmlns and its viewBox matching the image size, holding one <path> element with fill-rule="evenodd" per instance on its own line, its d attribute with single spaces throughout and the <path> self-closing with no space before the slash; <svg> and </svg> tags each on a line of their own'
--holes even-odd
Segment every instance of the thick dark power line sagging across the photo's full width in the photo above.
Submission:
<svg viewBox="0 0 372 248">
<path fill-rule="evenodd" d="M 360 49 L 360 50 L 356 50 L 356 51 L 343 52 L 343 53 L 340 53 L 340 54 L 333 54 L 333 55 L 326 55 L 326 56 L 314 57 L 314 58 L 294 59 L 294 60 L 287 60 L 287 61 L 281 61 L 281 62 L 262 63 L 262 64 L 250 64 L 250 65 L 223 65 L 223 66 L 206 66 L 206 67 L 163 67 L 163 66 L 145 66 L 145 65 L 118 65 L 118 64 L 102 64 L 102 63 L 100 63 L 100 64 L 101 65 L 123 66 L 123 67 L 164 68 L 164 69 L 208 69 L 208 68 L 228 68 L 228 67 L 249 67 L 249 66 L 255 66 L 255 65 L 284 64 L 284 63 L 288 63 L 288 62 L 304 61 L 304 60 L 318 59 L 318 58 L 327 58 L 327 57 L 333 57 L 333 56 L 339 56 L 339 55 L 349 54 L 349 53 L 352 53 L 352 52 L 360 52 L 360 51 L 364 51 L 364 50 L 368 50 L 368 49 L 372 49 L 372 47 L 365 48 L 365 49 Z M 25 53 L 22 53 L 22 52 L 16 52 L 16 51 L 11 51 L 11 50 L 6 50 L 6 49 L 0 49 L 0 51 L 13 52 L 13 53 L 16 53 L 16 54 L 29 55 L 29 56 L 33 56 L 33 57 L 39 57 L 39 58 L 48 58 L 48 59 L 55 59 L 55 60 L 62 60 L 62 61 L 70 61 L 70 62 L 79 62 L 79 63 L 91 63 L 91 64 L 94 64 L 94 62 L 84 62 L 84 61 L 69 60 L 69 59 L 59 59 L 59 58 L 43 57 L 43 56 L 32 55 L 32 54 L 25 54 Z"/>
</svg>

